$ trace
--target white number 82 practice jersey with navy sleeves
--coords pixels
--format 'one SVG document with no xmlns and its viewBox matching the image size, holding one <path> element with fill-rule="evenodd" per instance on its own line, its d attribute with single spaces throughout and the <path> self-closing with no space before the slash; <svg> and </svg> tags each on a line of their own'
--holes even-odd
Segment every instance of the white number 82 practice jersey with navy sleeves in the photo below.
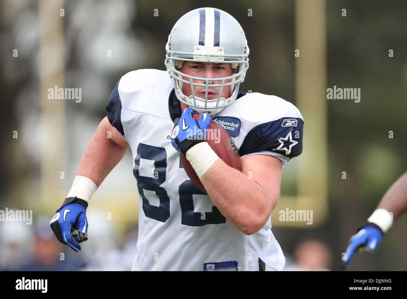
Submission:
<svg viewBox="0 0 407 299">
<path fill-rule="evenodd" d="M 106 104 L 109 122 L 129 142 L 139 191 L 132 270 L 258 271 L 259 258 L 266 270 L 282 270 L 285 259 L 270 218 L 255 234 L 243 234 L 186 175 L 170 140 L 181 116 L 173 87 L 166 71 L 132 71 L 118 81 Z M 271 155 L 284 166 L 302 151 L 300 111 L 277 96 L 239 92 L 212 119 L 232 136 L 241 157 Z M 227 184 L 232 178 L 220 179 Z"/>
</svg>

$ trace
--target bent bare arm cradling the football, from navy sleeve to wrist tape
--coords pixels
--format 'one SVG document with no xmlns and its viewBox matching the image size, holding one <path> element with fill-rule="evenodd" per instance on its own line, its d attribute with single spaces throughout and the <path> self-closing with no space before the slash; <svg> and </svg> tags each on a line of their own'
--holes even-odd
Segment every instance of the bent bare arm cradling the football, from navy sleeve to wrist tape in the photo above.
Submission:
<svg viewBox="0 0 407 299">
<path fill-rule="evenodd" d="M 267 155 L 241 159 L 242 172 L 221 159 L 201 177 L 219 211 L 246 235 L 261 229 L 280 196 L 281 162 Z"/>
</svg>

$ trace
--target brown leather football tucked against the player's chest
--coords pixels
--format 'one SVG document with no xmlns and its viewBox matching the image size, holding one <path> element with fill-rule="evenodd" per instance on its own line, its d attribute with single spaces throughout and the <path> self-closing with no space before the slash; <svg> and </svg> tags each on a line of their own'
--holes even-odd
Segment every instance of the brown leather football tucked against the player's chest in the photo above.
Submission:
<svg viewBox="0 0 407 299">
<path fill-rule="evenodd" d="M 200 116 L 201 115 L 198 113 L 192 115 L 192 117 L 195 119 L 198 119 Z M 209 128 L 206 134 L 206 142 L 208 142 L 209 146 L 218 155 L 218 157 L 223 160 L 223 162 L 228 164 L 230 167 L 242 171 L 239 151 L 237 150 L 232 137 L 230 137 L 228 131 L 223 129 L 221 125 L 214 120 L 210 120 Z M 194 168 L 184 155 L 181 155 L 181 163 L 182 166 L 184 166 L 186 174 L 195 184 L 195 186 L 208 194 L 204 188 L 204 185 L 202 185 L 201 181 L 199 180 Z"/>
</svg>

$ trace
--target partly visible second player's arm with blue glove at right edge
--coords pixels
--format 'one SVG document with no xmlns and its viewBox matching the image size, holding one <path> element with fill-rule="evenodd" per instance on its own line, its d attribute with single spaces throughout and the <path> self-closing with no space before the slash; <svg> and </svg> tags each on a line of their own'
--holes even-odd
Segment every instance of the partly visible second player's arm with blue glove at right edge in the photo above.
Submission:
<svg viewBox="0 0 407 299">
<path fill-rule="evenodd" d="M 355 253 L 376 251 L 383 235 L 405 210 L 407 210 L 407 172 L 393 183 L 368 221 L 350 237 L 342 260 L 342 269 L 348 268 Z"/>
</svg>

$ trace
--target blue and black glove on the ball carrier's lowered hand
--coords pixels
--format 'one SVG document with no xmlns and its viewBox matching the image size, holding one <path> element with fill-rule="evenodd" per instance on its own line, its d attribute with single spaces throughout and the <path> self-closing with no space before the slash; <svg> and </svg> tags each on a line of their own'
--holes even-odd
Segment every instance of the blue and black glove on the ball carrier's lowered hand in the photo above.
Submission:
<svg viewBox="0 0 407 299">
<path fill-rule="evenodd" d="M 68 244 L 74 251 L 80 251 L 79 243 L 88 240 L 87 207 L 88 203 L 83 199 L 68 197 L 50 221 L 58 241 Z"/>
</svg>

